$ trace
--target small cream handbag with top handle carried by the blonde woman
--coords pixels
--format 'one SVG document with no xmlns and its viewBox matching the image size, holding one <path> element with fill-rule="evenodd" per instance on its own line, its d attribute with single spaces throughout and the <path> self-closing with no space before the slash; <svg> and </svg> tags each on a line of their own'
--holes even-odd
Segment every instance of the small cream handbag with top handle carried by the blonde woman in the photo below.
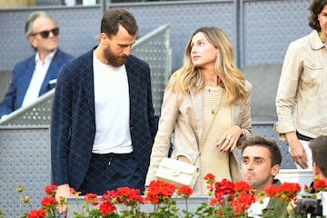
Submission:
<svg viewBox="0 0 327 218">
<path fill-rule="evenodd" d="M 179 154 L 177 156 L 188 156 Z M 188 158 L 190 160 L 190 158 Z M 193 188 L 199 177 L 199 168 L 191 163 L 185 163 L 173 158 L 164 157 L 155 176 L 166 183 L 174 183 L 177 188 L 188 185 Z"/>
</svg>

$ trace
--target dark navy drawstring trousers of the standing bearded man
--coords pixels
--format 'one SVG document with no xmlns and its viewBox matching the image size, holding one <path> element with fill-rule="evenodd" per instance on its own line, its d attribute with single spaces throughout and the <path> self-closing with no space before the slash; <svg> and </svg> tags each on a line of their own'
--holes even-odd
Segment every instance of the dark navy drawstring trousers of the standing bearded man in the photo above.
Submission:
<svg viewBox="0 0 327 218">
<path fill-rule="evenodd" d="M 102 195 L 118 187 L 129 187 L 140 189 L 142 193 L 144 180 L 134 153 L 92 154 L 84 182 L 77 191 Z"/>
</svg>

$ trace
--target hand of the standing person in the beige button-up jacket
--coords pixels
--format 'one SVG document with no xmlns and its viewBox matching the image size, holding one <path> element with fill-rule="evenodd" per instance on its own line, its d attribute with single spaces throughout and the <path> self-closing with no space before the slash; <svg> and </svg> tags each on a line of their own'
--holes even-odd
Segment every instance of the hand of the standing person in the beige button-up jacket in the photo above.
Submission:
<svg viewBox="0 0 327 218">
<path fill-rule="evenodd" d="M 294 132 L 286 134 L 287 142 L 290 146 L 290 154 L 295 163 L 300 165 L 302 169 L 308 168 L 308 156 Z"/>
</svg>

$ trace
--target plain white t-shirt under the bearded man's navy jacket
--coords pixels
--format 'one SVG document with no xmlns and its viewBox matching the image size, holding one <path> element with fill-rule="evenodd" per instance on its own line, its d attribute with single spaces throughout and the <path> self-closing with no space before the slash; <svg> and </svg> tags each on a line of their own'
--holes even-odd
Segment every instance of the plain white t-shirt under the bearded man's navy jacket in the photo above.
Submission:
<svg viewBox="0 0 327 218">
<path fill-rule="evenodd" d="M 96 124 L 93 153 L 131 153 L 129 87 L 125 65 L 114 67 L 103 64 L 95 55 L 93 64 Z"/>
</svg>

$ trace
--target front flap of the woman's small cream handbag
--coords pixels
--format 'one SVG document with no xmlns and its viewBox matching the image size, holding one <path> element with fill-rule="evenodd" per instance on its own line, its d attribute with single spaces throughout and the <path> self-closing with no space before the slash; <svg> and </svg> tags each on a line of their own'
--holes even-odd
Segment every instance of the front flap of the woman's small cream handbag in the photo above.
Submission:
<svg viewBox="0 0 327 218">
<path fill-rule="evenodd" d="M 186 173 L 186 174 L 193 174 L 198 171 L 198 167 L 190 164 L 190 163 L 183 163 L 181 161 L 164 157 L 162 162 L 160 163 L 160 166 L 169 169 L 173 172 L 180 172 L 180 173 Z"/>
</svg>

